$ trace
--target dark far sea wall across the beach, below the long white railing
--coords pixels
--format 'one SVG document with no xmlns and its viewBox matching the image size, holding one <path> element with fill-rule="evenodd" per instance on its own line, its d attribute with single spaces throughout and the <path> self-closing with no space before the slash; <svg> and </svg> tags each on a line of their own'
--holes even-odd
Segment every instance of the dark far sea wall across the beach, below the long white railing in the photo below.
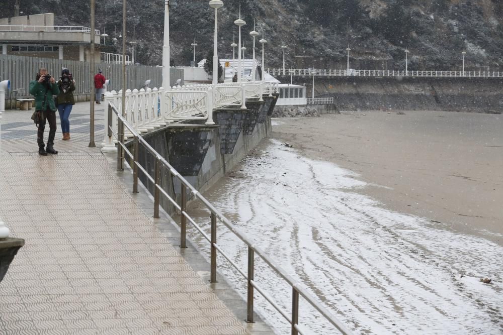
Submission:
<svg viewBox="0 0 503 335">
<path fill-rule="evenodd" d="M 502 88 L 502 78 L 317 77 L 315 95 L 333 97 L 338 110 L 448 110 L 500 114 Z"/>
</svg>

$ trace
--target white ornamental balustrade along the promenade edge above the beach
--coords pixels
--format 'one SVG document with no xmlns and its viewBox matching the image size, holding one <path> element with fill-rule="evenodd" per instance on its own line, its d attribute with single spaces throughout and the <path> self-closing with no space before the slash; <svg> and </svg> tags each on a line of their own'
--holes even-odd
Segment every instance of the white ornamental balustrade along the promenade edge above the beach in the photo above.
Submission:
<svg viewBox="0 0 503 335">
<path fill-rule="evenodd" d="M 246 101 L 264 100 L 264 94 L 273 96 L 279 91 L 277 83 L 243 82 L 212 84 L 197 84 L 164 88 L 147 88 L 126 90 L 124 98 L 124 117 L 138 133 L 146 133 L 167 124 L 205 120 L 206 125 L 214 125 L 213 110 L 221 108 L 246 109 Z M 105 102 L 113 102 L 122 110 L 122 90 L 105 93 Z M 113 151 L 109 143 L 108 117 L 105 116 L 104 148 Z M 117 129 L 117 119 L 112 118 L 112 129 Z M 125 139 L 133 134 L 126 131 Z"/>
</svg>

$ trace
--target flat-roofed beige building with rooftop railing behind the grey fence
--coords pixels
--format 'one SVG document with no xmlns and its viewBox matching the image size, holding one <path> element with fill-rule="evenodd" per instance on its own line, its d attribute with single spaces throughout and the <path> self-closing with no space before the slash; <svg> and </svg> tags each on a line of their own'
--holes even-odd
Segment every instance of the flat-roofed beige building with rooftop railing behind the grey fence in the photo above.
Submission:
<svg viewBox="0 0 503 335">
<path fill-rule="evenodd" d="M 95 31 L 95 61 L 100 61 L 100 31 Z M 0 19 L 3 55 L 90 61 L 91 29 L 54 26 L 54 14 Z"/>
</svg>

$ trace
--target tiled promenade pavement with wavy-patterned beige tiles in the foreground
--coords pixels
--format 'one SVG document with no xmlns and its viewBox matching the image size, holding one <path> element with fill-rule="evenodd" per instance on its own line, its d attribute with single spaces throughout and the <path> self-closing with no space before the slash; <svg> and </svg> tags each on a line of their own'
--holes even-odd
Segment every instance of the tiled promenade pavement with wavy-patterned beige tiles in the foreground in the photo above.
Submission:
<svg viewBox="0 0 503 335">
<path fill-rule="evenodd" d="M 0 217 L 26 245 L 0 283 L 0 334 L 247 333 L 87 147 L 89 104 L 75 105 L 69 142 L 58 118 L 57 156 L 37 154 L 31 113 L 1 120 Z"/>
</svg>

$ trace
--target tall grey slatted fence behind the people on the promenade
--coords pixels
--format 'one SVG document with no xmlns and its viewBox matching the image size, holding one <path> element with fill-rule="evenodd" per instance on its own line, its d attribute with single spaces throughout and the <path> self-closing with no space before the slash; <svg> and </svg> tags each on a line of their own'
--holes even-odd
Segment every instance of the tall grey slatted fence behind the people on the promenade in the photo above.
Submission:
<svg viewBox="0 0 503 335">
<path fill-rule="evenodd" d="M 61 69 L 66 67 L 73 74 L 76 81 L 75 93 L 90 94 L 91 78 L 90 64 L 87 62 L 59 60 L 51 58 L 37 58 L 24 56 L 0 55 L 0 80 L 11 80 L 11 92 L 18 90 L 18 97 L 26 97 L 29 93 L 31 80 L 35 80 L 35 74 L 40 67 L 45 67 L 49 74 L 58 78 Z M 122 88 L 122 64 L 96 64 L 96 71 L 103 70 L 103 75 L 110 79 L 109 90 Z M 162 68 L 156 66 L 128 65 L 126 66 L 126 87 L 133 89 L 142 88 L 145 80 L 150 79 L 150 87 L 160 87 L 162 84 Z M 183 69 L 171 69 L 171 86 L 177 79 L 184 80 Z"/>
</svg>

